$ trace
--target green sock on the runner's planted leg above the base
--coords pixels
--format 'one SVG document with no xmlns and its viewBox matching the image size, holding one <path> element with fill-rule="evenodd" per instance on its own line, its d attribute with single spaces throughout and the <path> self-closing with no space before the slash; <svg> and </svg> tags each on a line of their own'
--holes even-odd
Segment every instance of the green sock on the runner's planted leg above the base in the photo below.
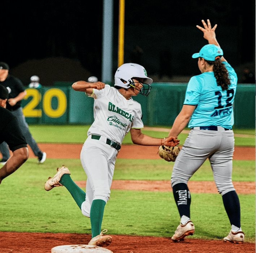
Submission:
<svg viewBox="0 0 256 253">
<path fill-rule="evenodd" d="M 103 212 L 106 202 L 102 199 L 95 199 L 91 205 L 91 227 L 92 227 L 92 238 L 100 234 L 101 222 L 103 218 Z"/>
</svg>

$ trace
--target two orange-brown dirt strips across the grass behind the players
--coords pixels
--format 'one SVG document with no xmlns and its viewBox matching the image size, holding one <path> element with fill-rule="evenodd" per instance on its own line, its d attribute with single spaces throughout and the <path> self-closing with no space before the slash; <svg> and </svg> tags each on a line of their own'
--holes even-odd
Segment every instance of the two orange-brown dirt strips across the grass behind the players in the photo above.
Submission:
<svg viewBox="0 0 256 253">
<path fill-rule="evenodd" d="M 82 144 L 40 144 L 40 148 L 47 153 L 48 158 L 80 158 Z M 30 155 L 33 156 L 32 150 Z M 118 158 L 127 159 L 161 159 L 157 154 L 156 146 L 140 145 L 122 145 Z M 254 147 L 235 147 L 234 159 L 237 160 L 254 160 Z M 80 187 L 85 187 L 85 182 L 77 182 Z M 244 185 L 247 187 L 244 188 Z M 213 181 L 188 182 L 191 192 L 195 193 L 217 193 Z M 250 194 L 255 193 L 255 182 L 234 182 L 235 189 L 238 193 Z M 148 191 L 170 191 L 170 182 L 147 180 L 114 180 L 112 189 L 123 190 L 148 190 Z"/>
</svg>

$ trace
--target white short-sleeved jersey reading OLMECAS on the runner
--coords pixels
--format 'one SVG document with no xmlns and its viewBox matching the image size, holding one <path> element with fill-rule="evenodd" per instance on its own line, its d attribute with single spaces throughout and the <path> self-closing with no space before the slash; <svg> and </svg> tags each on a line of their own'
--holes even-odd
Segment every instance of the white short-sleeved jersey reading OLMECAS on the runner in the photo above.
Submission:
<svg viewBox="0 0 256 253">
<path fill-rule="evenodd" d="M 143 128 L 141 105 L 125 99 L 116 88 L 93 89 L 90 97 L 94 98 L 94 122 L 87 136 L 105 136 L 121 145 L 131 128 Z"/>
</svg>

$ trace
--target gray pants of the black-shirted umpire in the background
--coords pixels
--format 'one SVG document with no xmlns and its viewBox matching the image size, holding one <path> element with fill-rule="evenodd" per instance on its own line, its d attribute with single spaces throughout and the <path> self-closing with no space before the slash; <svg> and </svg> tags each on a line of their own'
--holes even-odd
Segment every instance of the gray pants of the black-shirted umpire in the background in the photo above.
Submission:
<svg viewBox="0 0 256 253">
<path fill-rule="evenodd" d="M 29 131 L 29 126 L 27 125 L 25 116 L 23 115 L 22 107 L 19 107 L 17 110 L 12 111 L 12 114 L 17 118 L 19 127 L 23 136 L 25 137 L 27 144 L 30 145 L 35 156 L 38 156 L 38 153 L 41 150 L 39 149 L 35 139 L 32 137 Z M 10 157 L 9 148 L 5 141 L 0 144 L 0 152 L 2 153 L 3 160 L 7 160 Z"/>
</svg>

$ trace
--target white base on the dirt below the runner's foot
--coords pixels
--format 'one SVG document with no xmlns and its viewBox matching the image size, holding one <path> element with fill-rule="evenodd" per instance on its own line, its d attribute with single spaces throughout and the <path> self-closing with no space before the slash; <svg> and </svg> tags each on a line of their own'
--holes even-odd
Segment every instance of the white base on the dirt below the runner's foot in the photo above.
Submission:
<svg viewBox="0 0 256 253">
<path fill-rule="evenodd" d="M 51 253 L 113 253 L 111 250 L 86 244 L 60 245 L 52 248 Z"/>
</svg>

